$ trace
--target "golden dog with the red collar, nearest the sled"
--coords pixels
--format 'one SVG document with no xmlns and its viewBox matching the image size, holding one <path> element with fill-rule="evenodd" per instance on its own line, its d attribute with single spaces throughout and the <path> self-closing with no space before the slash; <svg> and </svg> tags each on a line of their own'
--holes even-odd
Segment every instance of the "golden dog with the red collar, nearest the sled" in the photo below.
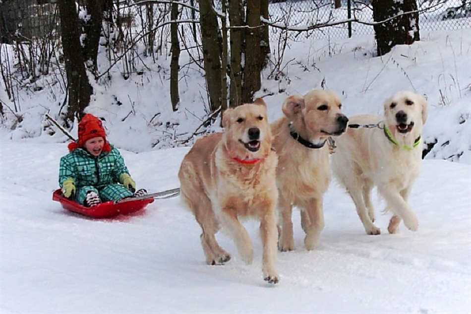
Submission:
<svg viewBox="0 0 471 314">
<path fill-rule="evenodd" d="M 262 99 L 224 113 L 224 133 L 198 139 L 184 157 L 178 178 L 182 199 L 201 226 L 201 244 L 210 265 L 223 264 L 231 256 L 218 244 L 215 234 L 224 227 L 246 263 L 253 259 L 242 217 L 260 220 L 263 244 L 263 276 L 279 281 L 277 254 L 275 184 L 278 157 L 272 148 L 272 134 Z"/>
</svg>

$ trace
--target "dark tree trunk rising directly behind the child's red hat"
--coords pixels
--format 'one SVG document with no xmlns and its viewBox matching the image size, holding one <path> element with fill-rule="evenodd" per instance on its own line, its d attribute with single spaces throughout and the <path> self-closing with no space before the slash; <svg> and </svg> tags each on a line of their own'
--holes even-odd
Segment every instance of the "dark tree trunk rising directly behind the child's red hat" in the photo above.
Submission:
<svg viewBox="0 0 471 314">
<path fill-rule="evenodd" d="M 67 74 L 68 107 L 65 122 L 81 119 L 93 88 L 88 82 L 79 40 L 78 15 L 73 0 L 59 0 L 60 32 Z"/>
</svg>

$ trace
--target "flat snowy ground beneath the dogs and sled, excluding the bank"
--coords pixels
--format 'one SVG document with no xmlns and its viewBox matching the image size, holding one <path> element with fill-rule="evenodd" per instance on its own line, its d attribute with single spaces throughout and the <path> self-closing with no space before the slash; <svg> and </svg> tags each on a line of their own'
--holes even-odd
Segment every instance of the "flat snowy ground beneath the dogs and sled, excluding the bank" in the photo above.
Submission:
<svg viewBox="0 0 471 314">
<path fill-rule="evenodd" d="M 233 242 L 225 266 L 204 262 L 193 216 L 179 198 L 131 217 L 91 220 L 52 201 L 66 145 L 0 139 L 0 313 L 470 313 L 471 165 L 424 160 L 410 203 L 415 233 L 367 236 L 353 202 L 335 184 L 326 227 L 305 251 L 298 211 L 296 250 L 278 254 L 281 282 L 264 283 L 255 221 L 245 226 L 254 263 Z M 138 187 L 178 186 L 188 148 L 122 151 Z"/>
</svg>

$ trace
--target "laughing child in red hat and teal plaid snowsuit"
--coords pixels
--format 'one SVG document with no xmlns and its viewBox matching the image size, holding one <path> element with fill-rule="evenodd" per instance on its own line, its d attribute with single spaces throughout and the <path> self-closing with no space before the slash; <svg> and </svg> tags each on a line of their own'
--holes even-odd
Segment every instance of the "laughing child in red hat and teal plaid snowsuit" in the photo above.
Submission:
<svg viewBox="0 0 471 314">
<path fill-rule="evenodd" d="M 78 140 L 68 145 L 69 154 L 60 159 L 59 186 L 65 197 L 74 197 L 86 207 L 101 201 L 147 194 L 143 188 L 133 193 L 136 183 L 118 149 L 106 140 L 97 117 L 86 114 L 78 124 Z"/>
</svg>

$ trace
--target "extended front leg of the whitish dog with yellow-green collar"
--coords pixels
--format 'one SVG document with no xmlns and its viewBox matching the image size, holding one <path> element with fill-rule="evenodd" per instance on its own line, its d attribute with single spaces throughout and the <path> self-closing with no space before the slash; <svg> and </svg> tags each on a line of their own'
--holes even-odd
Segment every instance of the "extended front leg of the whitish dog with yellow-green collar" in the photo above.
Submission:
<svg viewBox="0 0 471 314">
<path fill-rule="evenodd" d="M 404 224 L 406 227 L 409 230 L 416 231 L 418 228 L 417 217 L 407 203 L 410 188 L 402 190 L 401 193 L 398 193 L 391 185 L 378 185 L 378 190 L 388 203 L 388 207 L 397 216 L 404 219 Z"/>
</svg>

